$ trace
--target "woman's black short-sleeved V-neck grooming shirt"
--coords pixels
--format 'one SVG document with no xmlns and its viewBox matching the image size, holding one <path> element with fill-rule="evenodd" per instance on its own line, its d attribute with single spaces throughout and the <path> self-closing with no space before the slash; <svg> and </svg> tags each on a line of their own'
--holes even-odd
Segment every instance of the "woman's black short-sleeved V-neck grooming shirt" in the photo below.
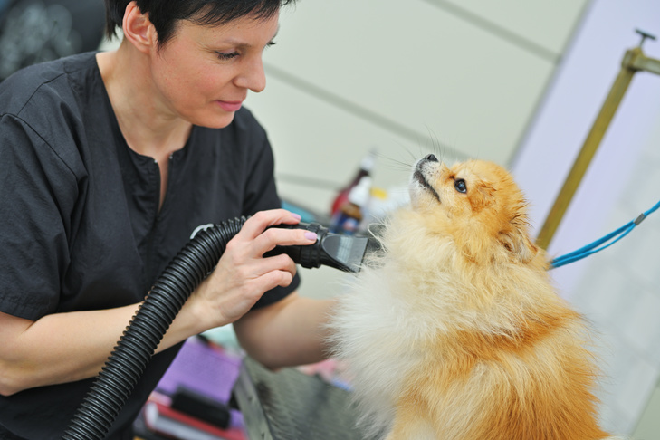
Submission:
<svg viewBox="0 0 660 440">
<path fill-rule="evenodd" d="M 0 311 L 29 320 L 139 302 L 198 225 L 280 206 L 270 144 L 242 109 L 225 129 L 193 128 L 158 212 L 158 164 L 123 139 L 94 53 L 0 84 L 0 158 Z M 109 438 L 123 438 L 179 348 L 150 361 Z M 0 397 L 0 437 L 60 438 L 92 381 Z"/>
</svg>

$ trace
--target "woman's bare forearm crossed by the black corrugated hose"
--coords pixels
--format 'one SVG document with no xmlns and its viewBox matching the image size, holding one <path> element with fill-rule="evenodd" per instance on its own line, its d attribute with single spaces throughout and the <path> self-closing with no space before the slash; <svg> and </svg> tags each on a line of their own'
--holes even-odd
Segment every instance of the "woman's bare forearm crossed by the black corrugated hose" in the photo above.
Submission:
<svg viewBox="0 0 660 440">
<path fill-rule="evenodd" d="M 0 394 L 96 376 L 138 308 L 54 313 L 36 321 L 0 313 Z M 198 325 L 182 310 L 157 352 L 206 330 Z"/>
</svg>

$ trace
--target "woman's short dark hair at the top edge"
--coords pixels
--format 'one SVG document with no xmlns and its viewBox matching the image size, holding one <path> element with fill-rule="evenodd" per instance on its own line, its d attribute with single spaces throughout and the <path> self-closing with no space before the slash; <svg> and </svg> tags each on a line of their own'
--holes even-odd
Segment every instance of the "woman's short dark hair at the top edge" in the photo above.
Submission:
<svg viewBox="0 0 660 440">
<path fill-rule="evenodd" d="M 126 6 L 131 0 L 105 0 L 105 32 L 109 38 L 121 28 Z M 235 19 L 251 16 L 266 19 L 276 14 L 282 5 L 295 0 L 136 0 L 141 13 L 148 14 L 156 28 L 158 45 L 162 46 L 177 31 L 179 20 L 196 24 L 226 24 Z"/>
</svg>

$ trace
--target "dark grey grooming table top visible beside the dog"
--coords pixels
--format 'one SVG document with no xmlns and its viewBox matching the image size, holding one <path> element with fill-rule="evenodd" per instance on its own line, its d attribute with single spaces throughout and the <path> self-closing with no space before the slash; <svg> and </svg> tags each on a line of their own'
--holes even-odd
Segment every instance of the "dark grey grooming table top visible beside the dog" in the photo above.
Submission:
<svg viewBox="0 0 660 440">
<path fill-rule="evenodd" d="M 349 391 L 295 368 L 245 358 L 234 385 L 250 440 L 363 440 Z"/>
</svg>

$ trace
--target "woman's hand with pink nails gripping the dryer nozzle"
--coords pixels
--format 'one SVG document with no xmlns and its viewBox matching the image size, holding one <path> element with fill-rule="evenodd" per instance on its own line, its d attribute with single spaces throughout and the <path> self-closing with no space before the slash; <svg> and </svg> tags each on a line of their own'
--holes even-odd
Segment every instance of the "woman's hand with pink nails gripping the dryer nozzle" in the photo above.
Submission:
<svg viewBox="0 0 660 440">
<path fill-rule="evenodd" d="M 286 254 L 263 258 L 276 245 L 308 245 L 316 234 L 301 229 L 268 228 L 297 225 L 300 216 L 284 209 L 262 211 L 249 218 L 226 246 L 213 273 L 187 301 L 206 324 L 205 330 L 241 318 L 264 292 L 275 286 L 288 286 L 296 272 Z"/>
</svg>

